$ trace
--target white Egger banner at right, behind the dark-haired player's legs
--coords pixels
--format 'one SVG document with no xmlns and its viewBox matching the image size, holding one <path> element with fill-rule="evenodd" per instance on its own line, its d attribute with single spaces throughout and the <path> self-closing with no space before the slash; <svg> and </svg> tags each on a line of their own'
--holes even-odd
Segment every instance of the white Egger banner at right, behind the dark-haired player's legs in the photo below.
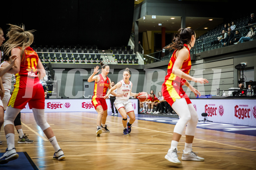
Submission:
<svg viewBox="0 0 256 170">
<path fill-rule="evenodd" d="M 199 120 L 208 113 L 208 120 L 219 123 L 256 126 L 254 99 L 191 99 Z"/>
</svg>

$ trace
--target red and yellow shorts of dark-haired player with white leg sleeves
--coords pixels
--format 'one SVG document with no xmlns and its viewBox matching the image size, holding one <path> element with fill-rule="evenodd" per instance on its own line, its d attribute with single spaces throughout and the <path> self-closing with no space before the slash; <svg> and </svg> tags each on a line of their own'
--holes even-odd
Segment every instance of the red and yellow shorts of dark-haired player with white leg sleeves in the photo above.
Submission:
<svg viewBox="0 0 256 170">
<path fill-rule="evenodd" d="M 173 86 L 170 82 L 164 82 L 162 84 L 162 95 L 164 99 L 172 106 L 176 99 L 185 98 L 187 104 L 191 101 L 187 94 L 184 92 L 183 88 L 180 86 Z"/>
</svg>

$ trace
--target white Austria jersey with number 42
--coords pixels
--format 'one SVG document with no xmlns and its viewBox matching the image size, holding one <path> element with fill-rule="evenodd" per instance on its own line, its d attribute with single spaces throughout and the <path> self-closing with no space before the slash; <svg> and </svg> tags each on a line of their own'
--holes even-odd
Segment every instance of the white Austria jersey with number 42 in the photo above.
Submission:
<svg viewBox="0 0 256 170">
<path fill-rule="evenodd" d="M 126 84 L 124 80 L 121 80 L 121 87 L 117 87 L 117 94 L 124 94 L 123 97 L 116 97 L 117 101 L 128 100 L 130 97 L 130 92 L 132 90 L 132 82 L 129 80 L 129 84 Z"/>
</svg>

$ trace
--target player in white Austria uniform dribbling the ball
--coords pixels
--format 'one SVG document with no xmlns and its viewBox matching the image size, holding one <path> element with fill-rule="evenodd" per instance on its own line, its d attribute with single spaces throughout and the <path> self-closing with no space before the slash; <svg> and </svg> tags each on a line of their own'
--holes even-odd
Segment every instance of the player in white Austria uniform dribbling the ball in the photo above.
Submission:
<svg viewBox="0 0 256 170">
<path fill-rule="evenodd" d="M 129 97 L 138 96 L 138 93 L 132 93 L 132 82 L 130 82 L 129 80 L 129 78 L 131 77 L 129 68 L 125 69 L 125 71 L 123 72 L 123 77 L 123 80 L 118 82 L 116 85 L 110 88 L 109 91 L 107 91 L 107 94 L 104 96 L 104 98 L 106 99 L 111 91 L 114 91 L 116 89 L 117 94 L 123 94 L 122 97 L 116 97 L 114 104 L 118 112 L 122 116 L 122 124 L 124 126 L 123 133 L 124 135 L 129 135 L 129 133 L 131 133 L 131 126 L 135 121 L 134 109 L 132 107 L 131 101 L 129 101 Z M 127 122 L 127 115 L 130 118 L 129 122 Z"/>
</svg>

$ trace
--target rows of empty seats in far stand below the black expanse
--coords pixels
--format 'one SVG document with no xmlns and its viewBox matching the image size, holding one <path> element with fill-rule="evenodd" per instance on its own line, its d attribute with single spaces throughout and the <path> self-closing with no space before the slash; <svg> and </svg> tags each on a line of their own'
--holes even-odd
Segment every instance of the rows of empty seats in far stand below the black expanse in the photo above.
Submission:
<svg viewBox="0 0 256 170">
<path fill-rule="evenodd" d="M 98 64 L 105 61 L 111 64 L 138 64 L 138 58 L 129 45 L 111 47 L 109 50 L 99 50 L 96 45 L 32 48 L 38 53 L 42 63 Z"/>
</svg>

